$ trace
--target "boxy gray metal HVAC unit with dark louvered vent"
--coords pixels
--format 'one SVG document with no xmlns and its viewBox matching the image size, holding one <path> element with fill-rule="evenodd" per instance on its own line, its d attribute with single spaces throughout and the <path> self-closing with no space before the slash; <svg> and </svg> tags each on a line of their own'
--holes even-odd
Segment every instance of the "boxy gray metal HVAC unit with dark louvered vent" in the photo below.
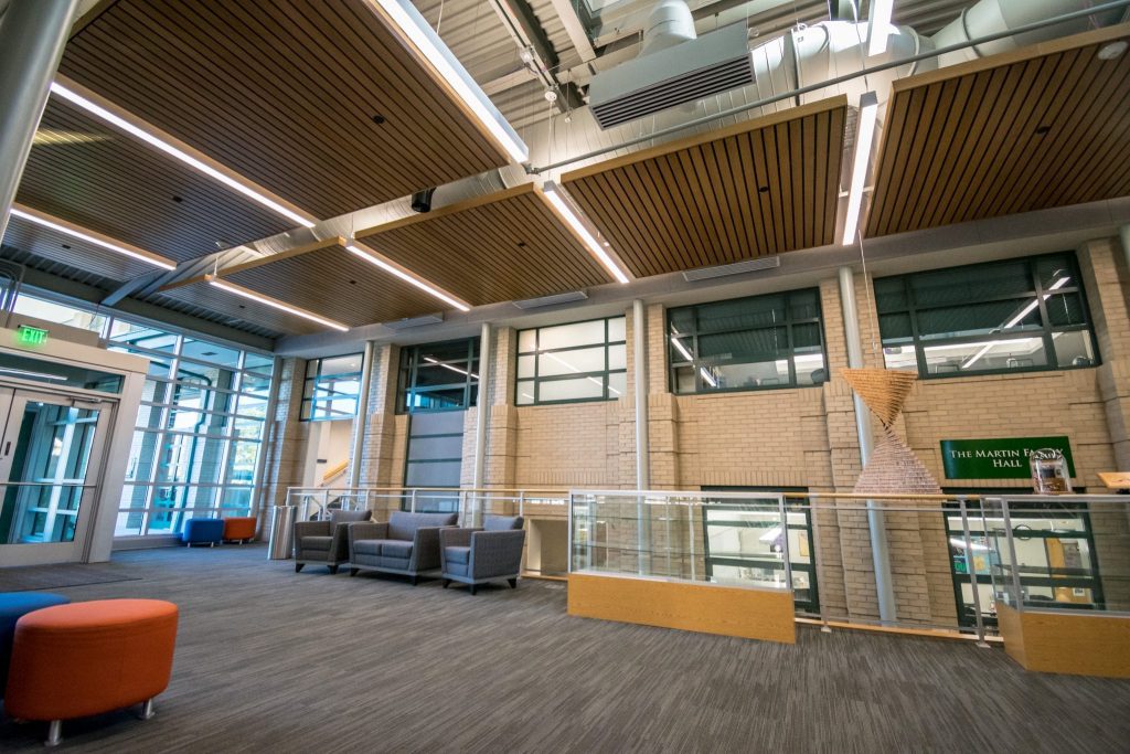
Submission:
<svg viewBox="0 0 1130 754">
<path fill-rule="evenodd" d="M 753 83 L 749 32 L 733 24 L 597 75 L 589 106 L 607 129 Z"/>
</svg>

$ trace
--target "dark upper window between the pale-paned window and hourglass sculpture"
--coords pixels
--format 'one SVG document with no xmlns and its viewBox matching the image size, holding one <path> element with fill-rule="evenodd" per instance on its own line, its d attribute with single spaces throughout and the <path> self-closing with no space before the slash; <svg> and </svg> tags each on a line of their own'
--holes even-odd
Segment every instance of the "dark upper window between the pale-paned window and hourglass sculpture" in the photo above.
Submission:
<svg viewBox="0 0 1130 754">
<path fill-rule="evenodd" d="M 817 288 L 667 313 L 673 392 L 815 385 L 828 379 Z"/>
</svg>

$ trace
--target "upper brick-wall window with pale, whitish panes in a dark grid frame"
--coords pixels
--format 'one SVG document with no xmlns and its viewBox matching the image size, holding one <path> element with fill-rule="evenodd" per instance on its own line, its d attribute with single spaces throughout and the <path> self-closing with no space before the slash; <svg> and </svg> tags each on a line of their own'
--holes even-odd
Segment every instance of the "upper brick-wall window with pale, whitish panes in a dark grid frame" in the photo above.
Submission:
<svg viewBox="0 0 1130 754">
<path fill-rule="evenodd" d="M 519 406 L 615 400 L 627 390 L 625 318 L 518 333 Z"/>
</svg>

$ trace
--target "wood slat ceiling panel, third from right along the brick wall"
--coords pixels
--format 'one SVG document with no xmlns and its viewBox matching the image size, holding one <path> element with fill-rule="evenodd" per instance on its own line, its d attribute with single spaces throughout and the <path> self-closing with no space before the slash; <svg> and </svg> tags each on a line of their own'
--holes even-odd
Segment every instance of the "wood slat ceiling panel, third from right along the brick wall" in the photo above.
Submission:
<svg viewBox="0 0 1130 754">
<path fill-rule="evenodd" d="M 357 237 L 476 306 L 611 281 L 533 184 L 360 231 Z"/>
</svg>

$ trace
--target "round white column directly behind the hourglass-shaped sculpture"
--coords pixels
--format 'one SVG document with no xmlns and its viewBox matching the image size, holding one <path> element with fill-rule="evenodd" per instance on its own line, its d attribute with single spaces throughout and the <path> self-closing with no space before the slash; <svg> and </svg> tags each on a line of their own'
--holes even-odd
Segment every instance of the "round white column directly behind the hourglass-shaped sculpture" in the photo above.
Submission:
<svg viewBox="0 0 1130 754">
<path fill-rule="evenodd" d="M 847 366 L 863 366 L 863 345 L 859 332 L 859 307 L 855 305 L 855 280 L 851 267 L 840 268 L 840 304 L 843 309 L 844 339 L 847 341 Z M 871 414 L 863 400 L 852 393 L 855 402 L 855 427 L 859 432 L 860 465 L 867 466 L 875 448 L 871 439 Z M 887 529 L 873 500 L 867 501 L 867 528 L 871 539 L 871 560 L 875 564 L 875 591 L 879 601 L 879 619 L 894 623 L 895 591 L 890 581 L 890 555 L 887 552 Z"/>
</svg>

